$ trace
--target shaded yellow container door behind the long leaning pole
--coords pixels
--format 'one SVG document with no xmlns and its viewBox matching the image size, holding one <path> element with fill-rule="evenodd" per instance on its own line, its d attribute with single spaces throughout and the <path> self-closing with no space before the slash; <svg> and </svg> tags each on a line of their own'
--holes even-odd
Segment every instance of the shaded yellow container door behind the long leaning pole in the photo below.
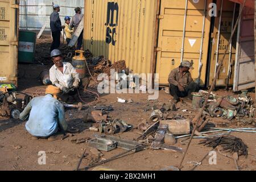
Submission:
<svg viewBox="0 0 256 182">
<path fill-rule="evenodd" d="M 214 30 L 212 33 L 212 52 L 210 54 L 210 69 L 208 86 L 212 84 L 213 78 L 216 76 L 219 61 L 222 59 L 226 47 L 229 51 L 223 61 L 223 67 L 216 81 L 216 86 L 226 86 L 233 84 L 234 65 L 236 60 L 236 35 L 232 40 L 232 46 L 228 45 L 232 27 L 236 23 L 236 5 L 231 1 L 218 0 L 217 1 L 217 17 L 214 22 Z M 220 34 L 218 33 L 220 32 Z"/>
</svg>

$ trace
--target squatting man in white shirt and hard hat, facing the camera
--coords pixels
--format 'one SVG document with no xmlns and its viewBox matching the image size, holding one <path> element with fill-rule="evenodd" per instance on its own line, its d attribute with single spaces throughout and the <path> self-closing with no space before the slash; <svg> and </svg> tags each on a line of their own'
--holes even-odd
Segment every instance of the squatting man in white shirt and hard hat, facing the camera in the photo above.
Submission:
<svg viewBox="0 0 256 182">
<path fill-rule="evenodd" d="M 61 90 L 58 97 L 63 102 L 72 103 L 74 100 L 78 100 L 77 89 L 79 86 L 81 86 L 81 91 L 87 89 L 89 78 L 83 78 L 80 81 L 79 73 L 76 72 L 72 64 L 63 62 L 63 57 L 59 50 L 55 49 L 51 52 L 51 59 L 54 65 L 49 70 L 49 77 L 52 85 Z"/>
</svg>

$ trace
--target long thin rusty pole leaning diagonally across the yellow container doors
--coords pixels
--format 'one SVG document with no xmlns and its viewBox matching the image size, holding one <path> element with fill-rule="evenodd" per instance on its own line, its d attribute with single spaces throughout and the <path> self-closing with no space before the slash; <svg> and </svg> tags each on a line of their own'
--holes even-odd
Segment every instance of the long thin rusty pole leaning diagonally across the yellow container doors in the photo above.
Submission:
<svg viewBox="0 0 256 182">
<path fill-rule="evenodd" d="M 243 8 L 245 7 L 245 3 L 246 3 L 246 0 L 244 0 L 244 2 L 243 2 L 242 10 L 243 10 Z M 235 33 L 236 29 L 237 29 L 238 22 L 240 21 L 241 16 L 242 16 L 242 11 L 240 12 L 240 14 L 239 14 L 239 16 L 238 16 L 238 18 L 237 18 L 236 25 L 234 26 L 234 30 L 232 31 L 232 34 L 231 34 L 230 39 L 229 39 L 229 43 L 231 42 L 231 39 L 233 39 L 234 33 Z M 229 43 L 228 43 L 228 44 L 229 44 Z M 228 49 L 229 49 L 229 47 L 226 47 L 225 53 L 224 53 L 224 55 L 223 55 L 223 57 L 222 57 L 222 59 L 221 59 L 221 61 L 220 61 L 220 63 L 221 63 L 221 64 L 220 64 L 220 67 L 218 67 L 218 69 L 217 69 L 217 73 L 220 73 L 220 68 L 222 67 L 222 64 L 223 64 L 223 61 L 224 61 L 224 59 L 225 59 L 226 53 L 228 52 Z M 218 74 L 217 74 L 217 75 L 218 75 Z M 209 93 L 208 93 L 207 97 L 205 98 L 205 102 L 204 102 L 203 107 L 201 108 L 200 112 L 195 116 L 195 118 L 194 118 L 193 121 L 192 121 L 193 123 L 195 123 L 195 127 L 194 127 L 194 129 L 193 129 L 193 131 L 192 131 L 191 138 L 189 139 L 188 146 L 187 146 L 187 148 L 186 148 L 186 150 L 185 150 L 185 152 L 184 152 L 184 155 L 183 155 L 183 157 L 182 157 L 182 159 L 181 159 L 181 162 L 180 162 L 180 165 L 179 165 L 179 169 L 181 169 L 182 164 L 183 164 L 183 161 L 184 161 L 184 159 L 185 159 L 185 155 L 187 155 L 188 148 L 189 148 L 189 146 L 190 146 L 190 144 L 191 144 L 191 141 L 192 141 L 193 136 L 195 135 L 195 132 L 196 132 L 196 129 L 197 129 L 196 126 L 197 126 L 197 124 L 198 124 L 199 121 L 200 121 L 200 118 L 201 118 L 201 116 L 202 116 L 202 114 L 203 114 L 203 111 L 204 111 L 204 109 L 205 109 L 205 106 L 207 105 L 207 101 L 208 101 L 208 99 L 209 99 L 209 97 L 210 97 L 210 93 L 212 92 L 212 90 L 213 90 L 213 88 L 214 88 L 214 85 L 215 85 L 215 82 L 216 82 L 216 80 L 217 80 L 217 75 L 216 75 L 216 76 L 214 77 L 214 79 L 213 79 L 212 85 L 210 86 Z"/>
</svg>

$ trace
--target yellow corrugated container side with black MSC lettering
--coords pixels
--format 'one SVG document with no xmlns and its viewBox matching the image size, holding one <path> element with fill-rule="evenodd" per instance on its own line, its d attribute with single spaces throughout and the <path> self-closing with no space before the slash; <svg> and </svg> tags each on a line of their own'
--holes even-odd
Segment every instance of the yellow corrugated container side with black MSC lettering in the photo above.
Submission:
<svg viewBox="0 0 256 182">
<path fill-rule="evenodd" d="M 86 0 L 84 48 L 134 73 L 150 73 L 154 60 L 155 0 Z"/>
</svg>

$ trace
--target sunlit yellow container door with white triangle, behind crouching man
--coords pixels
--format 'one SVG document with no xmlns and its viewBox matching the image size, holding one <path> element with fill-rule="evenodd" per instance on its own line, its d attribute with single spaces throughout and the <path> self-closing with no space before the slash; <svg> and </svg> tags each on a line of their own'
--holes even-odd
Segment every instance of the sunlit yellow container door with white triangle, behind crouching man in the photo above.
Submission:
<svg viewBox="0 0 256 182">
<path fill-rule="evenodd" d="M 204 84 L 210 32 L 208 10 L 211 2 L 161 1 L 156 48 L 156 73 L 159 73 L 160 85 L 168 84 L 168 75 L 172 69 L 179 67 L 181 59 L 193 63 L 195 69 L 191 71 L 192 77 L 199 78 L 201 85 Z"/>
</svg>

